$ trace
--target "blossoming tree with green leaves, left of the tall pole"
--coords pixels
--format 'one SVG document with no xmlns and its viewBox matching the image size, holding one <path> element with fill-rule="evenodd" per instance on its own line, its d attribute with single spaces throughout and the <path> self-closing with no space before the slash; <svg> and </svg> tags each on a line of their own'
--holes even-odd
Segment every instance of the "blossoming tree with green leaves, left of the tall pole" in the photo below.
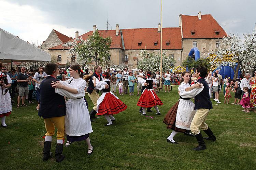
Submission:
<svg viewBox="0 0 256 170">
<path fill-rule="evenodd" d="M 77 63 L 84 68 L 87 64 L 109 65 L 111 37 L 103 38 L 98 30 L 87 39 L 76 38 L 68 41 L 63 47 L 68 48 L 68 55 L 76 55 Z"/>
</svg>

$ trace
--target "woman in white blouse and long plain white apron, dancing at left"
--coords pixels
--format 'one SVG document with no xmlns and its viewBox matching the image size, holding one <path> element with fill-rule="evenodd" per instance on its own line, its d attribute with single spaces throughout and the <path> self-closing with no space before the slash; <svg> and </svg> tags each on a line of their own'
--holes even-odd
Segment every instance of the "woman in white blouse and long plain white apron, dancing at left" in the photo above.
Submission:
<svg viewBox="0 0 256 170">
<path fill-rule="evenodd" d="M 88 145 L 87 155 L 91 155 L 93 146 L 91 146 L 89 134 L 93 130 L 89 111 L 84 100 L 86 81 L 82 79 L 83 71 L 78 65 L 71 65 L 69 73 L 74 79 L 58 81 L 57 83 L 52 82 L 56 93 L 70 98 L 66 102 L 65 133 L 68 139 L 66 147 L 71 142 L 85 140 Z"/>
</svg>

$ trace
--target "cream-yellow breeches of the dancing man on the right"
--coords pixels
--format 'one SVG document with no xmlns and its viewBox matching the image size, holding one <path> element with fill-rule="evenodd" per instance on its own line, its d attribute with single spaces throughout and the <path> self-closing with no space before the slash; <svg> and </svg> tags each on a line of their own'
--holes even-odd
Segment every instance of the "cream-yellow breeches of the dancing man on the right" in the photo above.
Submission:
<svg viewBox="0 0 256 170">
<path fill-rule="evenodd" d="M 200 133 L 199 129 L 207 130 L 208 125 L 205 123 L 206 117 L 210 110 L 207 108 L 197 109 L 197 112 L 191 122 L 190 130 L 193 134 L 197 135 Z"/>
</svg>

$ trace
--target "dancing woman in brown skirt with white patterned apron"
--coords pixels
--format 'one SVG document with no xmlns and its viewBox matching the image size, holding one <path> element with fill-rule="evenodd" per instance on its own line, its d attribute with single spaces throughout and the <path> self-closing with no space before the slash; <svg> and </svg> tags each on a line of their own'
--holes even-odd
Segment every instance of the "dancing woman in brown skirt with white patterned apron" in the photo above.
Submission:
<svg viewBox="0 0 256 170">
<path fill-rule="evenodd" d="M 183 91 L 190 91 L 193 88 L 201 88 L 201 83 L 196 83 L 190 85 L 188 81 L 190 80 L 190 74 L 187 71 L 182 73 L 182 83 L 179 85 L 179 93 Z M 180 96 L 180 100 L 172 106 L 168 111 L 163 123 L 167 124 L 167 129 L 172 129 L 172 133 L 167 137 L 167 142 L 178 144 L 175 142 L 173 137 L 178 133 L 184 133 L 188 136 L 194 136 L 190 132 L 190 124 L 195 116 L 196 110 L 194 110 L 195 104 L 190 100 L 190 98 L 183 98 Z"/>
</svg>

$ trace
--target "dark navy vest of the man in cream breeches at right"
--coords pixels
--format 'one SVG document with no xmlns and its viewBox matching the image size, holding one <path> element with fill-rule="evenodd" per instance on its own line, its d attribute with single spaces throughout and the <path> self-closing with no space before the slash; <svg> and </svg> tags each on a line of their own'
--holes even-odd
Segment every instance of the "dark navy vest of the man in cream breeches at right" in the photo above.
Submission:
<svg viewBox="0 0 256 170">
<path fill-rule="evenodd" d="M 197 83 L 203 84 L 203 91 L 201 91 L 198 95 L 195 96 L 195 110 L 199 108 L 207 108 L 212 109 L 212 102 L 210 100 L 209 94 L 209 85 L 204 80 L 204 78 L 200 78 L 197 80 Z"/>
</svg>

